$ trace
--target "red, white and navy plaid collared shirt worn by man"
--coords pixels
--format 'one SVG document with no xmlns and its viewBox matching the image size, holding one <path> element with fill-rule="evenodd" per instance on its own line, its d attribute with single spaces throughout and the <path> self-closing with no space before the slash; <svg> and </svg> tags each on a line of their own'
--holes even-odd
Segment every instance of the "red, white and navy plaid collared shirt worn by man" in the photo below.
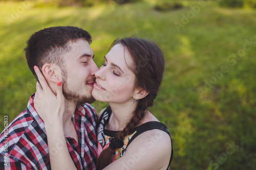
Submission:
<svg viewBox="0 0 256 170">
<path fill-rule="evenodd" d="M 35 111 L 33 98 L 34 94 L 27 109 L 0 135 L 0 169 L 51 169 L 45 124 Z M 70 156 L 77 169 L 96 169 L 96 111 L 89 104 L 78 105 L 72 120 L 79 146 L 74 138 L 66 136 Z"/>
</svg>

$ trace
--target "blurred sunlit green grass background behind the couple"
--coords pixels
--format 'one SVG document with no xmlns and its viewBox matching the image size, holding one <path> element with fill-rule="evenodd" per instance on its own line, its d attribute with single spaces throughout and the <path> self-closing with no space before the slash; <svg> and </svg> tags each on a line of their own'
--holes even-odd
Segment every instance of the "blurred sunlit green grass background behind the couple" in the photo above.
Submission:
<svg viewBox="0 0 256 170">
<path fill-rule="evenodd" d="M 151 111 L 172 134 L 170 169 L 256 169 L 255 0 L 0 1 L 0 16 L 0 131 L 36 90 L 23 51 L 32 33 L 83 28 L 100 66 L 114 39 L 136 32 L 165 53 Z"/>
</svg>

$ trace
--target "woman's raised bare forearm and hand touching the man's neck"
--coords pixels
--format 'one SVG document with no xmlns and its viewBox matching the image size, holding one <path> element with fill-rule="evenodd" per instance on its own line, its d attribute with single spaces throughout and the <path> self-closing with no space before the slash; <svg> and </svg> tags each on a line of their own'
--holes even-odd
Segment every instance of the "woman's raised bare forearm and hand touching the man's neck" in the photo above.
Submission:
<svg viewBox="0 0 256 170">
<path fill-rule="evenodd" d="M 62 116 L 65 100 L 62 94 L 61 82 L 56 83 L 57 94 L 55 95 L 38 67 L 35 67 L 35 72 L 40 84 L 36 83 L 34 107 L 45 123 L 51 168 L 53 170 L 76 169 L 69 154 L 63 130 Z"/>
</svg>

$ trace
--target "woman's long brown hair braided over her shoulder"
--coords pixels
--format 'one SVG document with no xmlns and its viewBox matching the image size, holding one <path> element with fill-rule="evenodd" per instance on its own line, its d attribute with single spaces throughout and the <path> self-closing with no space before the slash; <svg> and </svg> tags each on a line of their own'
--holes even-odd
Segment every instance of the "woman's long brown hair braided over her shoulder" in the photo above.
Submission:
<svg viewBox="0 0 256 170">
<path fill-rule="evenodd" d="M 123 141 L 125 136 L 134 132 L 134 128 L 147 113 L 148 107 L 153 106 L 153 101 L 162 82 L 165 64 L 161 48 L 151 40 L 134 36 L 116 39 L 110 49 L 119 43 L 130 52 L 133 58 L 134 66 L 129 66 L 129 68 L 135 74 L 134 88 L 143 88 L 148 92 L 143 99 L 138 101 L 133 116 L 126 127 L 115 136 Z M 96 169 L 101 170 L 112 163 L 114 152 L 115 150 L 110 149 L 110 147 L 103 150 L 97 160 Z"/>
</svg>

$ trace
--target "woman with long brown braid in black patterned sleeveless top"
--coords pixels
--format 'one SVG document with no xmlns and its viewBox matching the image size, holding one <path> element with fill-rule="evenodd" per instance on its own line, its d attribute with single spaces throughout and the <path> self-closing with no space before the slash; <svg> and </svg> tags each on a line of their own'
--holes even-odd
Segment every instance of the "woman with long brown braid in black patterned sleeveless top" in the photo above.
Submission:
<svg viewBox="0 0 256 170">
<path fill-rule="evenodd" d="M 148 110 L 162 81 L 163 53 L 156 43 L 136 37 L 117 39 L 110 49 L 104 64 L 95 72 L 92 91 L 96 100 L 110 105 L 99 113 L 97 169 L 168 169 L 173 158 L 170 134 Z M 51 100 L 61 103 L 63 97 Z M 40 102 L 44 101 L 36 100 Z M 53 103 L 48 107 L 58 106 Z M 47 114 L 52 113 L 38 114 L 46 121 Z M 61 116 L 61 111 L 57 114 Z M 56 131 L 55 127 L 46 126 L 47 134 Z M 48 135 L 48 142 L 57 141 Z M 64 155 L 65 158 L 50 155 L 55 160 L 51 161 L 52 167 L 76 169 L 67 150 Z"/>
</svg>

